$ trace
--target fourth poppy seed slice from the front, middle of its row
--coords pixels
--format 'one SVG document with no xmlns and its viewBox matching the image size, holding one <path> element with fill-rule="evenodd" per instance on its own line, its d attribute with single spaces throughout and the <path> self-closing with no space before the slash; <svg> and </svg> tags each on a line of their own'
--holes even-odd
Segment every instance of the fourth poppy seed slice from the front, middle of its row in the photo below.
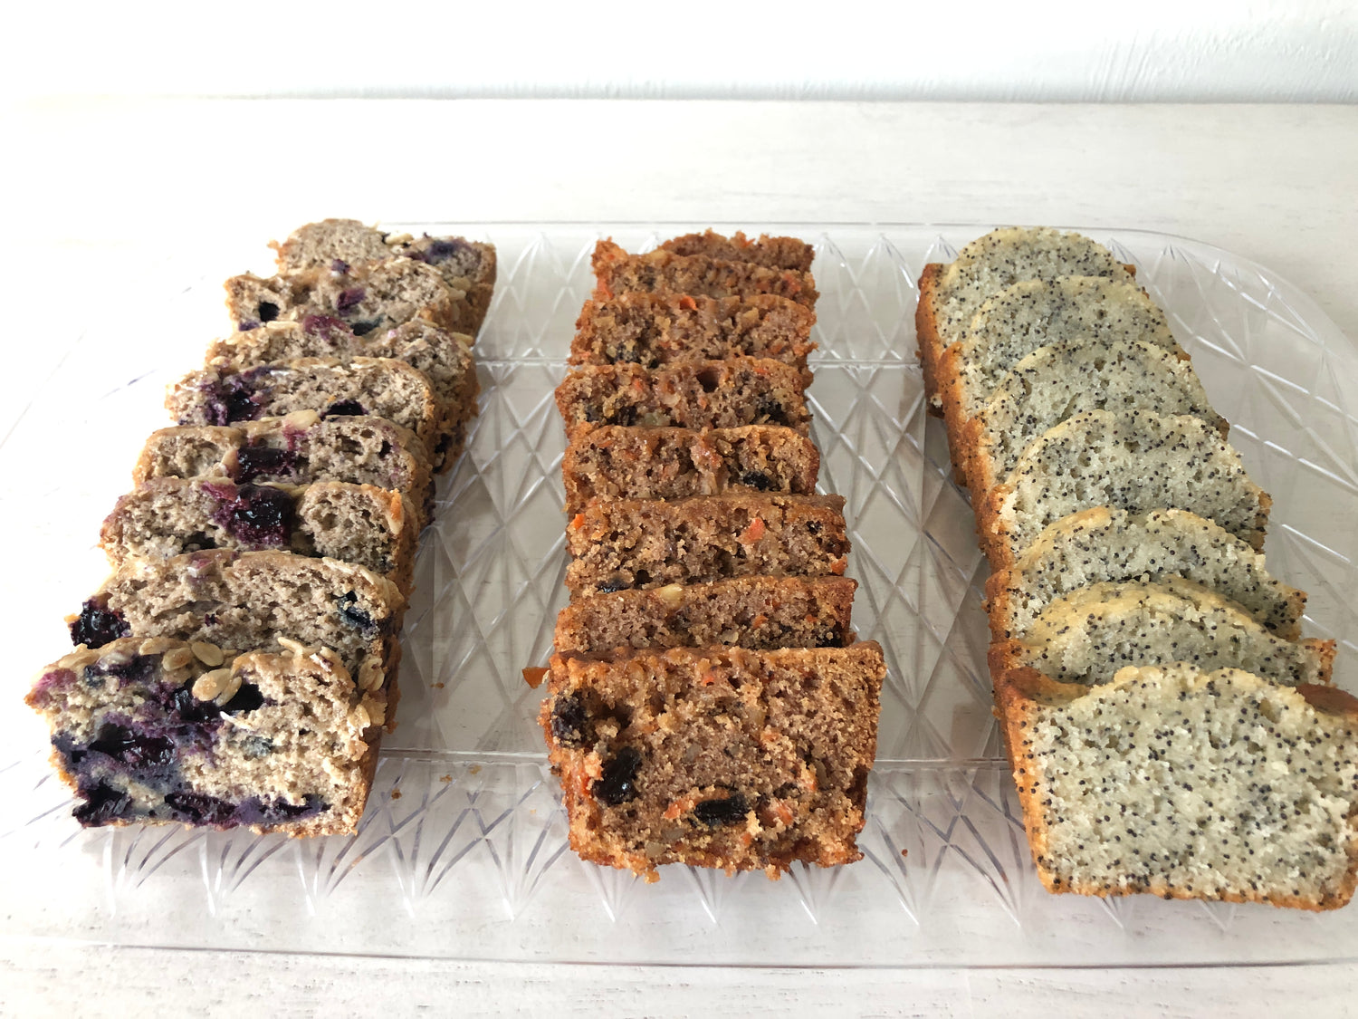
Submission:
<svg viewBox="0 0 1358 1019">
<path fill-rule="evenodd" d="M 990 565 L 1005 569 L 1044 527 L 1095 505 L 1190 510 L 1260 548 L 1270 504 L 1202 418 L 1086 410 L 1031 443 L 975 510 Z"/>
</svg>

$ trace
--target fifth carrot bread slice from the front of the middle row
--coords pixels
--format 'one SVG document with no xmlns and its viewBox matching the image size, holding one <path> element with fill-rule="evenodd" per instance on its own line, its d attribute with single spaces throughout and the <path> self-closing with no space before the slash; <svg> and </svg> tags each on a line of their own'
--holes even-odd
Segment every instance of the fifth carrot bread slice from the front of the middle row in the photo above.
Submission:
<svg viewBox="0 0 1358 1019">
<path fill-rule="evenodd" d="M 767 357 L 731 357 L 646 370 L 636 364 L 573 368 L 557 386 L 557 409 L 573 440 L 598 425 L 811 431 L 803 394 L 811 374 Z"/>
</svg>

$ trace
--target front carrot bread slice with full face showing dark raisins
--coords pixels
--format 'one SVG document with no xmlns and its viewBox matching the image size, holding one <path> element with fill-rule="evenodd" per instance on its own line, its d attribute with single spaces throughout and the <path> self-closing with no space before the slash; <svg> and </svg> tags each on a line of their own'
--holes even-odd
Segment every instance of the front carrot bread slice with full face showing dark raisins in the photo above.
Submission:
<svg viewBox="0 0 1358 1019">
<path fill-rule="evenodd" d="M 881 648 L 554 655 L 540 721 L 570 845 L 656 880 L 862 857 Z"/>
</svg>

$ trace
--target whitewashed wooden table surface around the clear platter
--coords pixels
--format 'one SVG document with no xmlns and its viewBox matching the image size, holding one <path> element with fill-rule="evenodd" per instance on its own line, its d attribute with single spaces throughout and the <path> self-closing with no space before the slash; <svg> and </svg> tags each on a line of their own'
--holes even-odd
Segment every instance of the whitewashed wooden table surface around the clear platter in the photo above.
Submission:
<svg viewBox="0 0 1358 1019">
<path fill-rule="evenodd" d="M 10 171 L 0 258 L 11 295 L 52 311 L 42 342 L 26 342 L 30 334 L 10 323 L 11 380 L 23 371 L 46 378 L 80 329 L 136 302 L 139 269 L 174 264 L 181 251 L 196 270 L 221 277 L 263 269 L 262 240 L 334 215 L 752 230 L 773 221 L 1134 227 L 1270 266 L 1358 337 L 1354 106 L 67 99 L 0 113 Z M 83 269 L 79 288 L 61 272 L 72 264 Z M 0 435 L 20 412 L 22 401 L 0 406 Z M 22 522 L 5 523 L 22 545 Z M 41 550 L 19 556 L 5 603 L 23 596 L 22 568 L 41 568 Z M 23 711 L 27 679 L 27 663 L 7 670 L 0 716 Z M 846 973 L 447 963 L 33 944 L 0 925 L 0 1015 L 403 1015 L 421 1005 L 561 1015 L 1343 1015 L 1358 1008 L 1355 977 L 1342 966 Z"/>
</svg>

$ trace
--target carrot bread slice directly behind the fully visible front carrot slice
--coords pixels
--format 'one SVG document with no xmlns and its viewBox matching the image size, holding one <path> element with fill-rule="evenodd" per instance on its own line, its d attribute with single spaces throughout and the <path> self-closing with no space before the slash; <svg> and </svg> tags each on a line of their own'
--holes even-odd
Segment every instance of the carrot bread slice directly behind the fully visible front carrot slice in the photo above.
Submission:
<svg viewBox="0 0 1358 1019">
<path fill-rule="evenodd" d="M 557 615 L 557 651 L 733 644 L 756 651 L 853 643 L 857 580 L 741 576 L 577 598 Z"/>
</svg>

